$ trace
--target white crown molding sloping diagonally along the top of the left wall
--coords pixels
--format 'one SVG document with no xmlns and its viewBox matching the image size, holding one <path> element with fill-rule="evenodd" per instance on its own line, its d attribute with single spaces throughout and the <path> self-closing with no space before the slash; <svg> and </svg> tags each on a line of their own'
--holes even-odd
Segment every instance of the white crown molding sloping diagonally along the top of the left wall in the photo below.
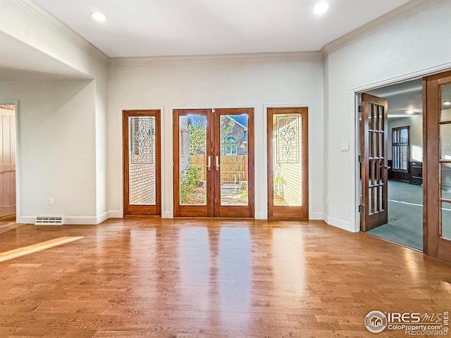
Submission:
<svg viewBox="0 0 451 338">
<path fill-rule="evenodd" d="M 79 35 L 77 32 L 72 30 L 68 25 L 65 25 L 61 20 L 58 20 L 51 15 L 47 11 L 44 11 L 41 7 L 37 6 L 31 0 L 11 0 L 14 4 L 17 4 L 21 8 L 23 8 L 28 13 L 34 15 L 36 18 L 42 21 L 45 25 L 51 27 L 53 30 L 58 32 L 59 34 L 66 37 L 71 42 L 79 46 L 81 49 L 86 51 L 89 55 L 94 56 L 97 60 L 101 61 L 105 65 L 109 63 L 109 56 L 104 54 L 100 49 L 96 46 L 88 42 L 84 37 Z"/>
</svg>

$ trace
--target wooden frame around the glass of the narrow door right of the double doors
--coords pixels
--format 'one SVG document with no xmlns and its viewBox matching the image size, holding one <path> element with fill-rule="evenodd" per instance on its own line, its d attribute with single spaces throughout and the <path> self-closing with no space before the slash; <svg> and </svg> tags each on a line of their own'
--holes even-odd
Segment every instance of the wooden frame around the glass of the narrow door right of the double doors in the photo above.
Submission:
<svg viewBox="0 0 451 338">
<path fill-rule="evenodd" d="M 273 206 L 273 115 L 277 113 L 300 113 L 302 115 L 302 207 Z M 268 156 L 268 218 L 309 218 L 309 108 L 308 107 L 267 107 L 266 134 Z M 306 142 L 304 142 L 306 141 Z M 277 210 L 278 209 L 278 210 Z M 299 215 L 300 214 L 300 215 Z"/>
</svg>

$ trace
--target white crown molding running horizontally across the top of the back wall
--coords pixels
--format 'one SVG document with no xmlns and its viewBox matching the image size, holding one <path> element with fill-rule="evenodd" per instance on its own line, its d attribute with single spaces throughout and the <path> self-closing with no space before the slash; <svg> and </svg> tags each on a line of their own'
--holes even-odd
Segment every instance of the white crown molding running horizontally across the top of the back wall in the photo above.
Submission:
<svg viewBox="0 0 451 338">
<path fill-rule="evenodd" d="M 281 53 L 211 54 L 185 56 L 148 56 L 135 58 L 110 58 L 110 66 L 121 65 L 172 65 L 187 63 L 242 63 L 268 61 L 321 61 L 321 51 L 290 51 Z"/>
</svg>

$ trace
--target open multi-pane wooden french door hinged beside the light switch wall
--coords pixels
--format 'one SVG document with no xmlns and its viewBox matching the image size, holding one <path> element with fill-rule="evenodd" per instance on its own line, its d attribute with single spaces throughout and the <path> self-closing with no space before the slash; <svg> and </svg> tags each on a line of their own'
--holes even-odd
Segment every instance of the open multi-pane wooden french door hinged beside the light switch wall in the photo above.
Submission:
<svg viewBox="0 0 451 338">
<path fill-rule="evenodd" d="M 360 173 L 362 231 L 388 222 L 387 100 L 362 94 L 360 116 Z"/>
</svg>

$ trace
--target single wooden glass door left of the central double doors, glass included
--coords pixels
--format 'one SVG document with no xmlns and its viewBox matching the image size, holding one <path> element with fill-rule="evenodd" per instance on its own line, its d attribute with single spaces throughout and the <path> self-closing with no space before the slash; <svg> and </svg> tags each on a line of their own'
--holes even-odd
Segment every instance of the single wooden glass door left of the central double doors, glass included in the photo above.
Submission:
<svg viewBox="0 0 451 338">
<path fill-rule="evenodd" d="M 124 215 L 161 215 L 160 111 L 123 111 Z"/>
</svg>

